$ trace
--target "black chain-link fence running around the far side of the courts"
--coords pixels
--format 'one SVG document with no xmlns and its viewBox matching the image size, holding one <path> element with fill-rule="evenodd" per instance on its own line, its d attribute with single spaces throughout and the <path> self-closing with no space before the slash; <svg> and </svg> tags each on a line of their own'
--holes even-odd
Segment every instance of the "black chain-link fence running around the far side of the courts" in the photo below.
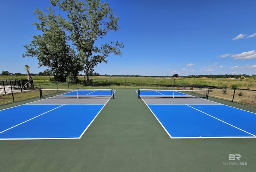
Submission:
<svg viewBox="0 0 256 172">
<path fill-rule="evenodd" d="M 74 84 L 52 83 L 45 85 L 33 85 L 33 89 L 28 89 L 29 87 L 25 87 L 25 81 L 23 82 L 24 84 L 22 84 L 21 81 L 19 81 L 21 84 L 18 84 L 18 81 L 15 81 L 16 85 L 14 83 L 9 83 L 9 85 L 7 83 L 3 84 L 3 80 L 0 82 L 2 83 L 0 86 L 5 88 L 5 92 L 4 89 L 0 89 L 0 105 L 40 97 L 39 89 L 152 88 L 190 90 L 209 89 L 209 97 L 256 107 L 256 90 L 178 83 L 175 82 L 175 79 L 96 78 L 80 80 L 79 83 Z"/>
</svg>

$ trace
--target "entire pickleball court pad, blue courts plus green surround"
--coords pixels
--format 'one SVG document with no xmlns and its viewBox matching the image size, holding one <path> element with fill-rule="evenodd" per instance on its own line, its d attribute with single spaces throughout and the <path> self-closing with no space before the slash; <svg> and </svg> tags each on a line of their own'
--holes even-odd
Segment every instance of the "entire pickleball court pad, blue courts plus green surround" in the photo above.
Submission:
<svg viewBox="0 0 256 172">
<path fill-rule="evenodd" d="M 42 90 L 40 100 L 1 107 L 1 170 L 255 171 L 256 139 L 246 134 L 255 135 L 255 108 L 202 98 L 204 91 L 139 99 L 138 89 L 102 91 Z"/>
</svg>

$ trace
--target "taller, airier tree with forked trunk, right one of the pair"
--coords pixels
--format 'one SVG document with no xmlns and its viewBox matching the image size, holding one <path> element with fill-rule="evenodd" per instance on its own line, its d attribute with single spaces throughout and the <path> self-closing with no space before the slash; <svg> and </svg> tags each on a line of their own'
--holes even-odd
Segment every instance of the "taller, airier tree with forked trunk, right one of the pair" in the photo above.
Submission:
<svg viewBox="0 0 256 172">
<path fill-rule="evenodd" d="M 98 63 L 107 63 L 106 57 L 110 53 L 121 55 L 120 48 L 123 43 L 112 42 L 96 46 L 96 41 L 108 34 L 109 31 L 120 29 L 112 8 L 108 3 L 100 0 L 50 0 L 52 5 L 58 6 L 66 12 L 66 30 L 69 38 L 78 51 L 84 66 L 83 70 L 87 79 Z"/>
</svg>

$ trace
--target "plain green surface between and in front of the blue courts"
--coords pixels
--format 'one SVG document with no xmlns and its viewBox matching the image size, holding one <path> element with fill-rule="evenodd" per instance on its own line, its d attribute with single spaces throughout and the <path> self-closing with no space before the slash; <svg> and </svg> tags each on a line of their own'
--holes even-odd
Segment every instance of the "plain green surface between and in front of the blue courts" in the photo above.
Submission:
<svg viewBox="0 0 256 172">
<path fill-rule="evenodd" d="M 171 139 L 135 89 L 116 89 L 114 95 L 80 139 L 0 140 L 1 171 L 255 171 L 256 138 Z"/>
</svg>

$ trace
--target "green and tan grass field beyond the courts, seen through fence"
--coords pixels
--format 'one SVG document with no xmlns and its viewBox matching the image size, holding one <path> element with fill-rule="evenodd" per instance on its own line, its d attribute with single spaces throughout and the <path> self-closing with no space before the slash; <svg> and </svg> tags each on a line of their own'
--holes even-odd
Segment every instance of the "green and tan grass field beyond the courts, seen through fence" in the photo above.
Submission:
<svg viewBox="0 0 256 172">
<path fill-rule="evenodd" d="M 26 79 L 26 76 L 0 76 L 0 79 Z M 102 89 L 102 88 L 134 88 L 134 89 L 174 89 L 172 85 L 179 85 L 175 89 L 196 89 L 193 85 L 210 85 L 222 88 L 211 89 L 209 97 L 234 101 L 240 104 L 256 107 L 256 91 L 234 89 L 256 90 L 256 83 L 253 79 L 212 79 L 212 78 L 166 78 L 166 77 L 91 77 L 93 84 L 84 86 L 85 77 L 78 78 L 80 83 L 52 83 L 50 77 L 33 76 L 34 91 L 15 94 L 15 101 L 22 101 L 39 96 L 38 89 Z M 183 87 L 186 85 L 186 87 Z M 190 85 L 190 86 L 189 86 Z M 198 88 L 197 88 L 198 89 Z M 224 92 L 225 91 L 225 92 Z M 12 95 L 2 95 L 0 105 L 12 103 Z"/>
</svg>

